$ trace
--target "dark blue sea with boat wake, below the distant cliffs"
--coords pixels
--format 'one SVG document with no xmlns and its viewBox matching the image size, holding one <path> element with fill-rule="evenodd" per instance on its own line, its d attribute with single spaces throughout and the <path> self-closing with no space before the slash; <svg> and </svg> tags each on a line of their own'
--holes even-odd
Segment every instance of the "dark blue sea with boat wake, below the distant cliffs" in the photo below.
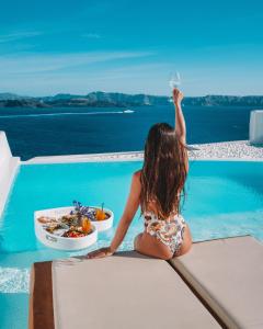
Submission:
<svg viewBox="0 0 263 329">
<path fill-rule="evenodd" d="M 255 109 L 183 106 L 187 144 L 248 139 L 252 110 Z M 13 156 L 22 160 L 142 150 L 150 126 L 158 122 L 174 125 L 172 104 L 128 109 L 0 109 L 0 131 L 5 132 Z"/>
</svg>

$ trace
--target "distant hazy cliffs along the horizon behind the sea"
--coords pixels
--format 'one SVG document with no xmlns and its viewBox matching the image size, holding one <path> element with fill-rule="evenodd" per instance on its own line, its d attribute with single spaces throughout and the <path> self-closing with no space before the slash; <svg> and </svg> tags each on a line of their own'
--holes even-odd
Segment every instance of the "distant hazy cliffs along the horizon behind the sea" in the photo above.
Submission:
<svg viewBox="0 0 263 329">
<path fill-rule="evenodd" d="M 125 94 L 118 92 L 91 92 L 87 95 L 60 93 L 54 97 L 31 98 L 13 93 L 0 93 L 0 107 L 77 107 L 77 106 L 146 106 L 168 105 L 168 97 Z M 191 106 L 253 106 L 263 107 L 263 97 L 206 95 L 185 98 L 184 105 Z"/>
</svg>

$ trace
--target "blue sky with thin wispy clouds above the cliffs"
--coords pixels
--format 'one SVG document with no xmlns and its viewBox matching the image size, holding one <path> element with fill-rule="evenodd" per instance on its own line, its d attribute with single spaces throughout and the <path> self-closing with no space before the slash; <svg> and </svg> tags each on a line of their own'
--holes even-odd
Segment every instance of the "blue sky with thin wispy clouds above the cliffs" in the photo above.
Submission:
<svg viewBox="0 0 263 329">
<path fill-rule="evenodd" d="M 263 1 L 0 0 L 0 92 L 263 94 Z"/>
</svg>

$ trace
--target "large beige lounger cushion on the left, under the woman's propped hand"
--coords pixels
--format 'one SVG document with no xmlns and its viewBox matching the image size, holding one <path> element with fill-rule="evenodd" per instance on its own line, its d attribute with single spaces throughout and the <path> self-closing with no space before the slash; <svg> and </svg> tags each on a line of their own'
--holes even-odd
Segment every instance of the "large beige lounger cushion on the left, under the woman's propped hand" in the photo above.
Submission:
<svg viewBox="0 0 263 329">
<path fill-rule="evenodd" d="M 126 252 L 53 262 L 55 328 L 220 328 L 162 260 Z"/>
</svg>

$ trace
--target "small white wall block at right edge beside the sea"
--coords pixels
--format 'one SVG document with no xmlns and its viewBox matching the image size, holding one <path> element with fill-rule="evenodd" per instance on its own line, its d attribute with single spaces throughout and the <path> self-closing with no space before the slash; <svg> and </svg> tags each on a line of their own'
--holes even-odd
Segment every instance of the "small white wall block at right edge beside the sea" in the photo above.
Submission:
<svg viewBox="0 0 263 329">
<path fill-rule="evenodd" d="M 263 145 L 263 110 L 254 110 L 250 114 L 250 143 Z"/>
</svg>

